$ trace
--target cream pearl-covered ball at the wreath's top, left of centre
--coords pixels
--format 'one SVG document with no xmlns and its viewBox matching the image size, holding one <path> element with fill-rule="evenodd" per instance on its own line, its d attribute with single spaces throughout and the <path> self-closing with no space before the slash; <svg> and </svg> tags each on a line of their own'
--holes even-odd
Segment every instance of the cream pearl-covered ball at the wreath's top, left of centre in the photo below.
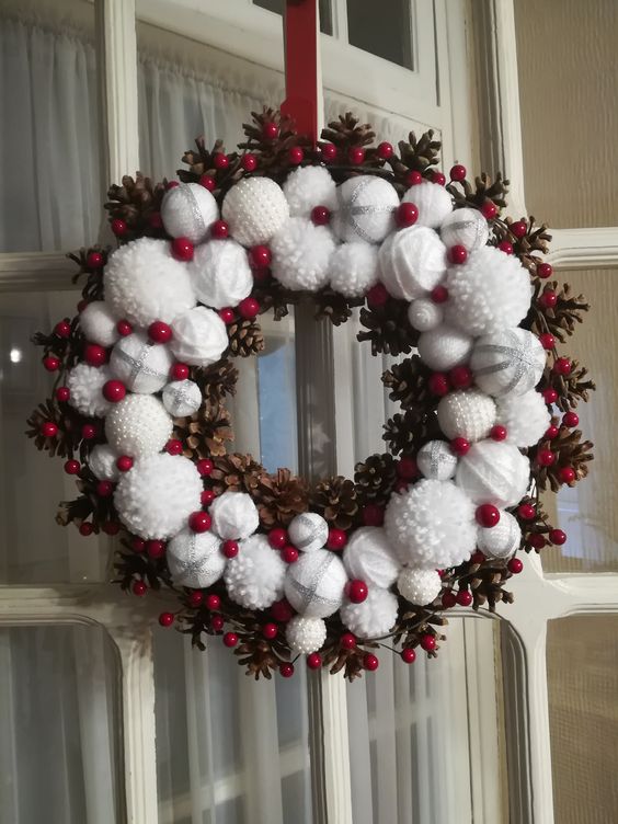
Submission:
<svg viewBox="0 0 618 824">
<path fill-rule="evenodd" d="M 281 187 L 268 178 L 245 178 L 227 193 L 221 209 L 230 234 L 243 247 L 268 243 L 289 217 Z"/>
</svg>

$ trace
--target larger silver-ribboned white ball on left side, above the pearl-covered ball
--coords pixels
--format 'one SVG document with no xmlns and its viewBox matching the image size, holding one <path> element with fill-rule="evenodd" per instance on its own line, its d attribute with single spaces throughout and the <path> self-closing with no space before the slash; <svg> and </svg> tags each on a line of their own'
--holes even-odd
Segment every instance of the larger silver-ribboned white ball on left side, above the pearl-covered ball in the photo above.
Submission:
<svg viewBox="0 0 618 824">
<path fill-rule="evenodd" d="M 121 337 L 112 350 L 110 369 L 127 389 L 152 394 L 170 379 L 174 358 L 165 344 L 152 343 L 145 332 Z"/>
</svg>

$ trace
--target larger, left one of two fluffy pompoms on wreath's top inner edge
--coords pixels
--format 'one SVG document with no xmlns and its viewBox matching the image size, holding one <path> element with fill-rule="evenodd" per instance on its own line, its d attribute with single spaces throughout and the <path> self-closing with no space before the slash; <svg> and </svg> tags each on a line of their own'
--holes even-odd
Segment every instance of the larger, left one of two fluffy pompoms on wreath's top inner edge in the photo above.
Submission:
<svg viewBox="0 0 618 824">
<path fill-rule="evenodd" d="M 291 217 L 271 241 L 271 271 L 288 289 L 317 291 L 329 279 L 335 250 L 331 230 L 305 217 Z"/>
</svg>

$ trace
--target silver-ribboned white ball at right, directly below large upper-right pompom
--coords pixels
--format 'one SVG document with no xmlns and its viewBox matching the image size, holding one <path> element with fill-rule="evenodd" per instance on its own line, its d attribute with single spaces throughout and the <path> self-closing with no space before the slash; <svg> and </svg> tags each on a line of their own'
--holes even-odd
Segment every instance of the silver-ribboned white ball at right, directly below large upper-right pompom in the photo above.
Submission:
<svg viewBox="0 0 618 824">
<path fill-rule="evenodd" d="M 503 329 L 479 337 L 470 357 L 474 380 L 493 396 L 523 394 L 541 379 L 547 356 L 527 329 Z"/>
</svg>

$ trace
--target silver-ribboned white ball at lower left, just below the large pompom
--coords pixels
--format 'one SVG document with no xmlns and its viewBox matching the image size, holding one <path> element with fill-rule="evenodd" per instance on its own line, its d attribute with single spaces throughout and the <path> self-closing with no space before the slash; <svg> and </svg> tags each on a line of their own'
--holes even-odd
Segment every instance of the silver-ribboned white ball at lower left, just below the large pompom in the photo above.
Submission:
<svg viewBox="0 0 618 824">
<path fill-rule="evenodd" d="M 185 527 L 168 543 L 168 566 L 176 586 L 202 590 L 224 574 L 227 559 L 221 541 L 213 533 L 194 533 Z"/>
</svg>

